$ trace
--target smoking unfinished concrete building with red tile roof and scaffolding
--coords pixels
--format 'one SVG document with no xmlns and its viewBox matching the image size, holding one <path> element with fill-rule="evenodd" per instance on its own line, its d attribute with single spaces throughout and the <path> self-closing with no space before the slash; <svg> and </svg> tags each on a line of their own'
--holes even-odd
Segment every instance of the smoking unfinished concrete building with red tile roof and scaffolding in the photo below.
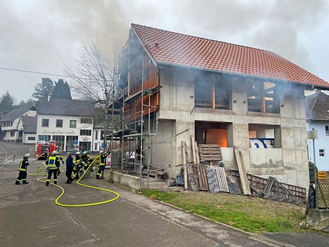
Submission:
<svg viewBox="0 0 329 247">
<path fill-rule="evenodd" d="M 121 142 L 121 171 L 173 180 L 193 135 L 220 145 L 225 168 L 237 168 L 235 147 L 247 173 L 308 187 L 304 90 L 324 80 L 270 51 L 136 24 L 118 70 L 108 110 L 120 130 L 108 138 Z"/>
</svg>

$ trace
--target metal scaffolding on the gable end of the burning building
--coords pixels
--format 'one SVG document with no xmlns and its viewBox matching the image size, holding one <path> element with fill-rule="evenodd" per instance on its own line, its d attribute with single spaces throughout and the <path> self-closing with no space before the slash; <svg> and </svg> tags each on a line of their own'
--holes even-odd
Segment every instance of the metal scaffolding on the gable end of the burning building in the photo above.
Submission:
<svg viewBox="0 0 329 247">
<path fill-rule="evenodd" d="M 156 110 L 159 102 L 157 67 L 145 49 L 145 31 L 140 41 L 131 30 L 119 58 L 120 78 L 115 97 L 108 104 L 108 112 L 120 122 L 121 129 L 112 131 L 111 145 L 120 142 L 121 172 L 139 175 L 142 188 L 142 170 L 151 164 L 151 140 L 157 135 Z M 111 150 L 112 151 L 112 150 Z M 145 155 L 147 153 L 147 155 Z M 146 156 L 146 157 L 145 157 Z"/>
</svg>

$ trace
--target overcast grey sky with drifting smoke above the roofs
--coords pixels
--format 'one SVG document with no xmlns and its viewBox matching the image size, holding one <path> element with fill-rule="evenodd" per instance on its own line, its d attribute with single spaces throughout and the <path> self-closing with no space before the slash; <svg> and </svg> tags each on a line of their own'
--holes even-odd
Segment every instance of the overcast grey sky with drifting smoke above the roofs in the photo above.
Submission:
<svg viewBox="0 0 329 247">
<path fill-rule="evenodd" d="M 136 23 L 270 50 L 329 81 L 328 2 L 0 0 L 0 67 L 63 75 L 82 42 L 109 48 Z M 0 96 L 27 100 L 42 77 L 62 78 L 0 69 Z"/>
</svg>

